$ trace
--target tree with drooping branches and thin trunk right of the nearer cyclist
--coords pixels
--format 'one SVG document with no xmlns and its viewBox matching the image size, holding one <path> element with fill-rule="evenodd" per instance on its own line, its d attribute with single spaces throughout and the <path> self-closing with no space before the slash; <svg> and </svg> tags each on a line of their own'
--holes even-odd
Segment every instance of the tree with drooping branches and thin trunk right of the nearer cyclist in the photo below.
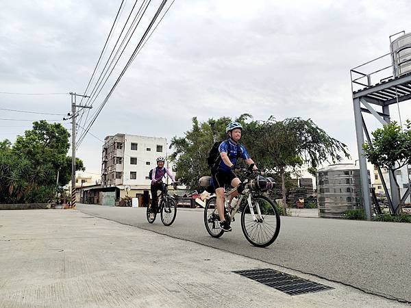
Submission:
<svg viewBox="0 0 411 308">
<path fill-rule="evenodd" d="M 252 149 L 259 168 L 275 170 L 282 178 L 283 211 L 286 215 L 287 170 L 307 165 L 315 175 L 316 168 L 331 159 L 339 162 L 349 157 L 347 146 L 330 137 L 311 119 L 286 118 L 277 121 L 273 117 L 245 128 L 244 142 Z M 341 153 L 341 155 L 340 155 Z"/>
</svg>

